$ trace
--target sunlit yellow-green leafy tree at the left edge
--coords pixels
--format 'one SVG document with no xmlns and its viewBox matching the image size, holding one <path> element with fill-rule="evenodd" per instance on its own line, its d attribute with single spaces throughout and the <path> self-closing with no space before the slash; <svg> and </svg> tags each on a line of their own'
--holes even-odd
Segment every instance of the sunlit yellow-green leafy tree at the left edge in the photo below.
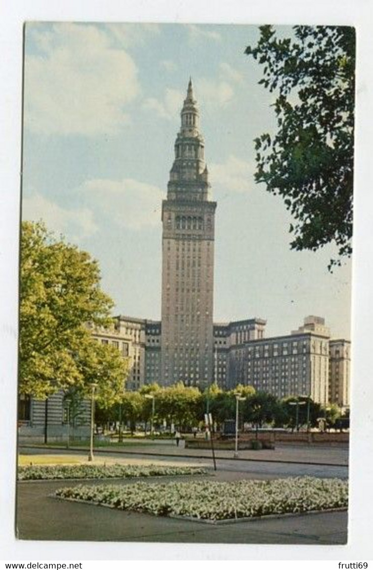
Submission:
<svg viewBox="0 0 373 570">
<path fill-rule="evenodd" d="M 110 404 L 123 391 L 127 361 L 87 329 L 87 323 L 111 324 L 112 301 L 99 280 L 88 253 L 56 240 L 42 223 L 22 223 L 20 392 L 46 398 L 74 388 L 84 394 L 97 382 L 98 399 Z"/>
</svg>

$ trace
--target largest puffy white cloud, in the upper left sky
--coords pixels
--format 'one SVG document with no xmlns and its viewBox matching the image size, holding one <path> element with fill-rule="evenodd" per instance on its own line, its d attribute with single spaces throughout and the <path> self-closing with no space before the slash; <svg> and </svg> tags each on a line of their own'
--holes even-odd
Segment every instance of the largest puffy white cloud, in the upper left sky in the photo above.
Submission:
<svg viewBox="0 0 373 570">
<path fill-rule="evenodd" d="M 137 69 L 104 27 L 59 23 L 43 31 L 29 24 L 26 33 L 38 50 L 25 61 L 29 129 L 89 136 L 123 127 L 125 105 L 139 93 Z"/>
</svg>

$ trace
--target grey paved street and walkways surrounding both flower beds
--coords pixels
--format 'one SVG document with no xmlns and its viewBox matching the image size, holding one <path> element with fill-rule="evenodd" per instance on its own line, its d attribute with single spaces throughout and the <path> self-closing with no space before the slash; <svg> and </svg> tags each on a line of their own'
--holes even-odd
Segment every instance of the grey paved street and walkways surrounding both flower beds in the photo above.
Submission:
<svg viewBox="0 0 373 570">
<path fill-rule="evenodd" d="M 29 456 L 40 453 L 60 457 L 73 455 L 87 460 L 85 450 L 44 449 L 22 447 L 20 453 Z M 193 453 L 191 453 L 193 451 Z M 113 453 L 95 451 L 95 461 L 102 463 L 183 463 L 205 466 L 209 476 L 218 481 L 240 479 L 272 479 L 297 475 L 347 478 L 347 449 L 280 449 L 254 452 L 242 451 L 234 459 L 229 451 L 217 453 L 217 471 L 212 459 L 198 457 L 197 450 L 184 450 L 165 445 L 147 447 L 146 451 L 131 447 Z M 201 452 L 198 452 L 201 453 Z M 272 453 L 269 457 L 268 454 Z M 204 450 L 204 455 L 206 451 Z M 230 457 L 229 457 L 230 456 Z M 303 463 L 295 463 L 301 457 Z M 274 462 L 277 458 L 278 462 Z M 258 460 L 262 459 L 262 461 Z M 308 459 L 313 465 L 306 464 Z M 315 461 L 325 463 L 316 464 Z M 288 462 L 286 462 L 288 461 Z M 293 462 L 290 462 L 293 461 Z M 301 461 L 301 459 L 299 459 Z M 330 465 L 336 463 L 336 465 Z M 178 478 L 180 480 L 181 478 Z M 182 478 L 185 480 L 185 477 Z M 167 481 L 175 478 L 167 478 Z M 151 478 L 147 481 L 160 481 Z M 133 480 L 132 480 L 133 482 Z M 91 504 L 73 503 L 55 499 L 52 495 L 59 487 L 75 486 L 82 481 L 19 482 L 17 491 L 18 538 L 31 540 L 95 540 L 95 541 L 160 541 L 196 543 L 242 544 L 344 544 L 347 540 L 347 512 L 336 511 L 307 515 L 256 519 L 222 525 L 203 524 L 189 520 L 151 516 L 137 512 L 117 511 Z M 84 484 L 95 484 L 90 481 Z M 102 481 L 100 481 L 102 483 Z M 131 481 L 111 480 L 108 484 L 130 484 Z"/>
</svg>

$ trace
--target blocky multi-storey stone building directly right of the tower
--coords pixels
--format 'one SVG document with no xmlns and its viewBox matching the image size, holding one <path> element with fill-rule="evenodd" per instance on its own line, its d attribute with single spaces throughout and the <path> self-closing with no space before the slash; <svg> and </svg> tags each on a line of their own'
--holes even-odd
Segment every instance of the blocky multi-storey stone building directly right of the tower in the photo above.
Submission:
<svg viewBox="0 0 373 570">
<path fill-rule="evenodd" d="M 225 352 L 225 377 L 217 381 L 228 389 L 252 385 L 257 391 L 287 396 L 311 396 L 326 404 L 329 397 L 329 336 L 326 329 L 314 332 L 305 325 L 291 335 L 265 338 L 265 321 L 253 319 L 226 325 L 230 333 Z M 318 319 L 320 317 L 317 317 Z M 252 331 L 250 338 L 248 323 Z M 314 324 L 314 323 L 313 323 Z M 219 326 L 222 331 L 222 325 Z M 217 352 L 221 345 L 217 345 Z M 222 373 L 222 371 L 221 371 Z"/>
</svg>

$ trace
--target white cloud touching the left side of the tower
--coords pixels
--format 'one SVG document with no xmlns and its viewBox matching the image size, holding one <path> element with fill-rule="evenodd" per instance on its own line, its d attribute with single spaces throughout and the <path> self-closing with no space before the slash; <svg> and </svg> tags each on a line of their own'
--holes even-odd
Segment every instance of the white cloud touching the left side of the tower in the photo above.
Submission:
<svg viewBox="0 0 373 570">
<path fill-rule="evenodd" d="M 77 192 L 89 193 L 92 208 L 108 214 L 119 225 L 135 230 L 160 225 L 165 193 L 157 186 L 131 178 L 96 178 L 84 182 Z"/>
</svg>

